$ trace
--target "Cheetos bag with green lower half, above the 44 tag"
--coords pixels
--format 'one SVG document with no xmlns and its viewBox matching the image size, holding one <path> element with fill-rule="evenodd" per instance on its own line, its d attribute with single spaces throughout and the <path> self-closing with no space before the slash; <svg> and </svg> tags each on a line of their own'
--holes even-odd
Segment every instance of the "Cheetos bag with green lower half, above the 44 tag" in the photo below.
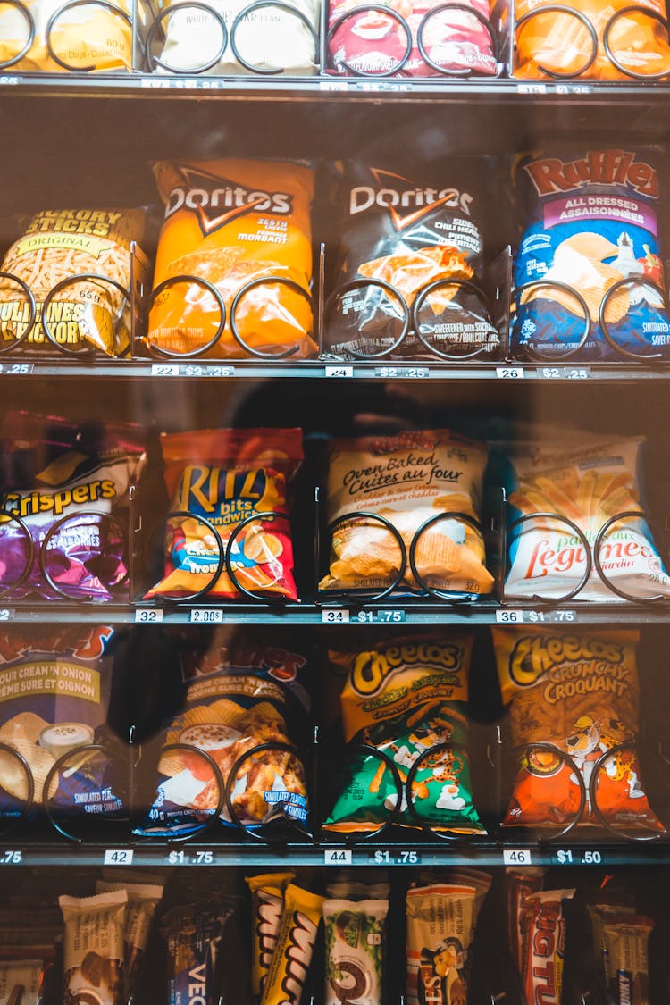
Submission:
<svg viewBox="0 0 670 1005">
<path fill-rule="evenodd" d="M 466 753 L 471 647 L 468 636 L 447 641 L 425 635 L 386 639 L 364 651 L 329 653 L 336 666 L 348 670 L 342 693 L 345 741 L 378 748 L 398 769 L 403 785 L 398 823 L 416 827 L 425 821 L 437 830 L 484 832 L 472 804 Z M 431 753 L 431 748 L 450 743 L 453 748 Z M 405 783 L 417 760 L 414 816 L 407 807 Z M 361 753 L 350 772 L 325 828 L 377 830 L 398 801 L 391 770 L 380 758 Z"/>
</svg>

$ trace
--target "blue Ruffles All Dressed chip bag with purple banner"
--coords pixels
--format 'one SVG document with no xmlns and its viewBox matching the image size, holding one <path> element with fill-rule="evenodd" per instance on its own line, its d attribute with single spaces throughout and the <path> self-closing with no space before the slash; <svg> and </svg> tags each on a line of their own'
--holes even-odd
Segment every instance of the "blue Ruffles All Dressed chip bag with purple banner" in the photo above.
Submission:
<svg viewBox="0 0 670 1005">
<path fill-rule="evenodd" d="M 537 283 L 517 296 L 515 353 L 534 350 L 560 359 L 578 350 L 571 359 L 621 360 L 626 353 L 668 358 L 660 192 L 652 154 L 589 150 L 575 157 L 530 156 L 515 174 L 524 227 L 516 285 Z M 579 349 L 587 312 L 572 290 L 589 315 L 589 334 Z M 606 330 L 622 352 L 608 342 Z"/>
</svg>

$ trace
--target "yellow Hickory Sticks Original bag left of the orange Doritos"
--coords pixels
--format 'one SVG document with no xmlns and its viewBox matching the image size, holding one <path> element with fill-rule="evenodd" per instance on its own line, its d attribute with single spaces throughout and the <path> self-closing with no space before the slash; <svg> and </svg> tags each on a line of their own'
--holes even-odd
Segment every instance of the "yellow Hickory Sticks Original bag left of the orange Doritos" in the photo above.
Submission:
<svg viewBox="0 0 670 1005">
<path fill-rule="evenodd" d="M 0 7 L 0 20 L 2 11 L 11 9 Z M 49 209 L 30 217 L 2 262 L 2 271 L 25 282 L 37 308 L 19 351 L 54 348 L 42 325 L 43 301 L 57 283 L 70 279 L 47 309 L 46 324 L 54 341 L 71 352 L 92 347 L 106 356 L 125 355 L 130 349 L 131 305 L 104 279 L 130 291 L 131 244 L 142 241 L 144 232 L 142 209 Z M 134 267 L 141 280 L 147 260 L 139 248 Z M 83 273 L 100 279 L 76 278 Z M 0 345 L 5 348 L 20 339 L 29 323 L 25 290 L 12 279 L 0 278 Z"/>
</svg>

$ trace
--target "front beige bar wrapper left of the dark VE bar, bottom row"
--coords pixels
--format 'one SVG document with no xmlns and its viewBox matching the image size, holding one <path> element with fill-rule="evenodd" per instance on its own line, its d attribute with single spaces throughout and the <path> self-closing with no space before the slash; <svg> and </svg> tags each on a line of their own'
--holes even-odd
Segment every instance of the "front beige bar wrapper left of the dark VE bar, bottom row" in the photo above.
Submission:
<svg viewBox="0 0 670 1005">
<path fill-rule="evenodd" d="M 63 1005 L 124 1005 L 125 889 L 59 896 L 65 923 Z"/>
</svg>

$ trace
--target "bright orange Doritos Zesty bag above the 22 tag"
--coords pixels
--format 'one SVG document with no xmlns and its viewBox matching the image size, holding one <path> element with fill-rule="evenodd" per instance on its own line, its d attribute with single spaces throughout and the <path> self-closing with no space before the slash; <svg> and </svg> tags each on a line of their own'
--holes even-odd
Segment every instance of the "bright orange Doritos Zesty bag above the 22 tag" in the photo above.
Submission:
<svg viewBox="0 0 670 1005">
<path fill-rule="evenodd" d="M 294 349 L 291 359 L 313 356 L 313 170 L 289 161 L 161 161 L 154 174 L 165 203 L 154 288 L 172 282 L 150 312 L 150 347 L 194 353 L 216 336 L 221 309 L 211 290 L 197 281 L 204 279 L 226 307 L 225 330 L 209 355 L 248 356 L 233 338 L 230 312 L 244 286 L 263 279 L 268 281 L 254 285 L 238 303 L 240 337 L 268 356 Z"/>
</svg>

